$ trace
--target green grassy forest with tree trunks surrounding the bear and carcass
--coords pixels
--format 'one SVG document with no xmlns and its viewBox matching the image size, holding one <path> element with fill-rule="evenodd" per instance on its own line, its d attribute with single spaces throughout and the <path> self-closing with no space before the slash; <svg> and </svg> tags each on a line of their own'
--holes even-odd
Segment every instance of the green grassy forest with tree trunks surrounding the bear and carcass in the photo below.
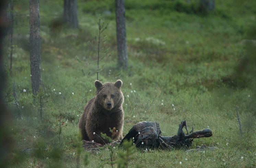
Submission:
<svg viewBox="0 0 256 168">
<path fill-rule="evenodd" d="M 3 7 L 1 167 L 256 167 L 256 1 Z M 186 120 L 213 132 L 189 149 L 216 149 L 85 151 L 78 122 L 96 79 L 123 81 L 124 135 L 139 121 L 175 135 Z"/>
</svg>

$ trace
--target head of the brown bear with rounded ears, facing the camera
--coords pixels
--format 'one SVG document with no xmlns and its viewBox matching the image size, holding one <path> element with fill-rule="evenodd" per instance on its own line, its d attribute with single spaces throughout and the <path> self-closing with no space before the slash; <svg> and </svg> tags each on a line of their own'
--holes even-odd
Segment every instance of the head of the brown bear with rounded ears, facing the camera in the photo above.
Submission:
<svg viewBox="0 0 256 168">
<path fill-rule="evenodd" d="M 115 83 L 106 82 L 103 84 L 96 80 L 94 85 L 96 87 L 96 100 L 98 103 L 109 111 L 115 107 L 122 106 L 124 102 L 124 95 L 120 89 L 122 84 L 121 80 L 117 80 Z"/>
</svg>

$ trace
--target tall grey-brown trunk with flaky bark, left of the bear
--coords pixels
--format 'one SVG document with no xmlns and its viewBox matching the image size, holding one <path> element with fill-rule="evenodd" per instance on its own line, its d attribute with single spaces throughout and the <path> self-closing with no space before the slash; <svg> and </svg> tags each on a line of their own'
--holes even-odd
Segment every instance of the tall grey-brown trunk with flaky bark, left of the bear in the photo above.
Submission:
<svg viewBox="0 0 256 168">
<path fill-rule="evenodd" d="M 36 95 L 42 85 L 40 67 L 40 18 L 39 0 L 29 0 L 30 3 L 30 71 L 32 92 Z"/>
</svg>

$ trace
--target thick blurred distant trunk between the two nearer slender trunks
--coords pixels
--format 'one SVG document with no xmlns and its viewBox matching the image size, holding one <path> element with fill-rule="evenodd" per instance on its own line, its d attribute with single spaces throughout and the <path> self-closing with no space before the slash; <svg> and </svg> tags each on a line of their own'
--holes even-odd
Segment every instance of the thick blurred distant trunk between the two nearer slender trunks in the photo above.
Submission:
<svg viewBox="0 0 256 168">
<path fill-rule="evenodd" d="M 78 28 L 77 0 L 64 0 L 64 22 L 70 27 Z"/>
</svg>

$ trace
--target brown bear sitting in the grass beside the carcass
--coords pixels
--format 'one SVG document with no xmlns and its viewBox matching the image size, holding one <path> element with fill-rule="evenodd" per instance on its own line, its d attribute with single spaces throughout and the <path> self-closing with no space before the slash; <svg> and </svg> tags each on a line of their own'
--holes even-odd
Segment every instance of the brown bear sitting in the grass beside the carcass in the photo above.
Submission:
<svg viewBox="0 0 256 168">
<path fill-rule="evenodd" d="M 86 141 L 106 144 L 107 139 L 101 137 L 101 132 L 113 139 L 123 139 L 124 95 L 120 90 L 123 82 L 117 80 L 115 83 L 101 83 L 96 80 L 96 96 L 88 101 L 79 121 L 79 129 L 82 139 Z M 110 129 L 115 127 L 115 133 Z"/>
</svg>

